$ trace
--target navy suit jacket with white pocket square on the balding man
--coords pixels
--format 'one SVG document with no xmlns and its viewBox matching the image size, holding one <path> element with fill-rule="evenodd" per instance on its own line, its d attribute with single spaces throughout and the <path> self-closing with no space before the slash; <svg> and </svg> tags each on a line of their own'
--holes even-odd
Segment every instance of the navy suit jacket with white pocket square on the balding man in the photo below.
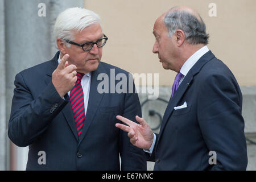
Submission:
<svg viewBox="0 0 256 182">
<path fill-rule="evenodd" d="M 175 106 L 187 107 L 174 110 Z M 211 51 L 179 85 L 163 116 L 150 160 L 155 170 L 245 170 L 247 150 L 236 78 Z M 210 164 L 210 151 L 217 164 Z M 213 162 L 212 158 L 210 159 Z"/>
</svg>

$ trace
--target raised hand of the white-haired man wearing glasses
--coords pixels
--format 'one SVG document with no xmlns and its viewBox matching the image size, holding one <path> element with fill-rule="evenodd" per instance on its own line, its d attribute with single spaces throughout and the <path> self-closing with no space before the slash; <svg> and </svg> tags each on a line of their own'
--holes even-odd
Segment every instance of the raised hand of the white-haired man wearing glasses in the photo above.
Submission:
<svg viewBox="0 0 256 182">
<path fill-rule="evenodd" d="M 58 67 L 52 73 L 52 84 L 61 98 L 73 88 L 77 80 L 76 65 L 68 65 L 68 58 L 68 54 L 64 55 Z"/>
</svg>

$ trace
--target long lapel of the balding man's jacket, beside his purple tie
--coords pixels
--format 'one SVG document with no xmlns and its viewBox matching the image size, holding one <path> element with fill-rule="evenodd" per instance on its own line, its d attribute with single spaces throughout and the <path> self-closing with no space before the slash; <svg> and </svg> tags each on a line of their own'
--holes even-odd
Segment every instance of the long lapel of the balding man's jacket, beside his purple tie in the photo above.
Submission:
<svg viewBox="0 0 256 182">
<path fill-rule="evenodd" d="M 174 111 L 174 107 L 177 106 L 183 95 L 185 94 L 186 90 L 189 88 L 189 86 L 192 86 L 193 77 L 200 72 L 200 69 L 203 67 L 205 63 L 212 60 L 215 56 L 211 51 L 208 51 L 203 55 L 195 65 L 189 70 L 188 74 L 184 77 L 184 80 L 181 82 L 179 87 L 177 88 L 174 97 L 172 97 L 168 103 L 168 106 L 166 108 L 166 111 L 164 112 L 162 125 L 159 132 L 159 138 L 162 137 L 162 133 L 164 130 L 164 127 L 166 126 L 166 123 L 168 122 L 168 119 L 171 117 L 171 114 Z"/>
</svg>

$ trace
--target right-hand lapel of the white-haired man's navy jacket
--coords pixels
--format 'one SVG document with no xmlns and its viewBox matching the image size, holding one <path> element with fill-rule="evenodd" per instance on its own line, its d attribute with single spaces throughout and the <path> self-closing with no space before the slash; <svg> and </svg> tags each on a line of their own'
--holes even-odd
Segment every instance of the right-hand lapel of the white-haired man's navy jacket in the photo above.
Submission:
<svg viewBox="0 0 256 182">
<path fill-rule="evenodd" d="M 84 126 L 82 127 L 82 133 L 80 136 L 79 144 L 81 143 L 82 139 L 84 139 L 90 125 L 94 121 L 94 117 L 98 111 L 98 107 L 100 106 L 102 97 L 104 96 L 104 93 L 100 94 L 98 93 L 98 90 L 97 90 L 98 84 L 100 84 L 101 82 L 101 80 L 97 80 L 97 77 L 100 73 L 105 73 L 105 70 L 102 67 L 101 63 L 98 65 L 98 68 L 96 69 L 96 71 L 92 72 L 88 107 L 85 115 L 85 123 L 84 123 Z"/>
</svg>

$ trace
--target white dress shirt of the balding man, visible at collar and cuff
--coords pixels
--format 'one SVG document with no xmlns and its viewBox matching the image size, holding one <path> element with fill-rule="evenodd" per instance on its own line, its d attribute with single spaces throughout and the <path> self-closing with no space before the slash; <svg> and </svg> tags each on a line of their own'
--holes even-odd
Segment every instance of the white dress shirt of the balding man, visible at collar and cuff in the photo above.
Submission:
<svg viewBox="0 0 256 182">
<path fill-rule="evenodd" d="M 199 49 L 198 51 L 196 51 L 191 57 L 189 57 L 189 59 L 187 61 L 185 61 L 185 63 L 183 64 L 183 66 L 180 69 L 180 73 L 182 73 L 182 75 L 184 75 L 183 78 L 181 78 L 179 85 L 181 84 L 181 82 L 184 80 L 185 76 L 188 74 L 189 70 L 193 67 L 193 65 L 196 64 L 196 62 L 205 54 L 209 51 L 207 46 L 202 47 L 201 49 Z M 152 151 L 154 149 L 155 146 L 155 140 L 156 140 L 156 135 L 154 134 L 154 140 L 152 143 L 152 146 L 150 147 L 150 150 L 146 150 L 143 149 L 145 152 L 148 152 L 150 154 L 152 154 Z"/>
</svg>

